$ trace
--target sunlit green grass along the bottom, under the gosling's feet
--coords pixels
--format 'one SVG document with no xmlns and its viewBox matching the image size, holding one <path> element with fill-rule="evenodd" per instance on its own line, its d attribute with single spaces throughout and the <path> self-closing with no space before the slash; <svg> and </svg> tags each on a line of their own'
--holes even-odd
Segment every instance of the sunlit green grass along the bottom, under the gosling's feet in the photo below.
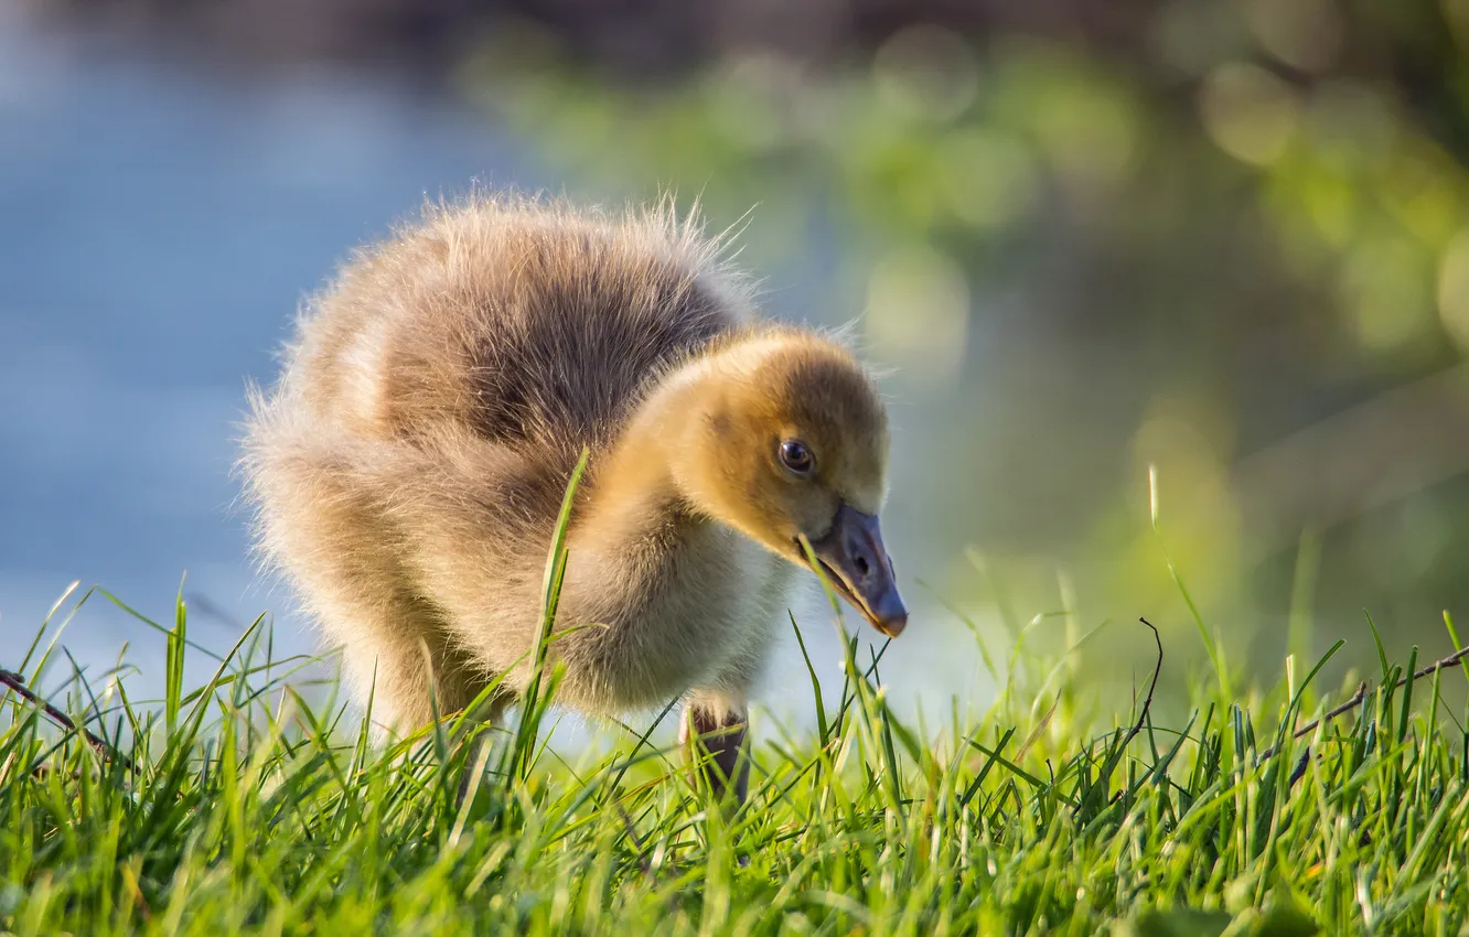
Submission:
<svg viewBox="0 0 1469 937">
<path fill-rule="evenodd" d="M 1379 689 L 1294 739 L 1356 684 L 1318 698 L 1312 671 L 1241 706 L 1203 674 L 1165 730 L 1141 699 L 1086 715 L 1062 658 L 1027 656 L 981 718 L 930 727 L 895 718 L 853 642 L 840 692 L 811 671 L 814 733 L 757 726 L 749 803 L 726 815 L 660 734 L 610 728 L 611 749 L 561 761 L 554 670 L 460 805 L 455 720 L 379 749 L 298 695 L 303 662 L 270 661 L 260 623 L 197 687 L 184 602 L 154 627 L 162 703 L 56 690 L 119 755 L 6 698 L 0 931 L 1469 933 L 1454 670 L 1396 687 L 1384 655 Z M 40 640 L 32 676 L 57 668 Z"/>
</svg>

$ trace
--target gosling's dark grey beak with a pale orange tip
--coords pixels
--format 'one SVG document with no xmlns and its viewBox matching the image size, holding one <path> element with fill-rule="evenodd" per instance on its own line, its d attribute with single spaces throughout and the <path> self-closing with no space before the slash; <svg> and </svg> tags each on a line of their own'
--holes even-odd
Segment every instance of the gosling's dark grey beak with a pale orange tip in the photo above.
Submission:
<svg viewBox="0 0 1469 937">
<path fill-rule="evenodd" d="M 898 595 L 893 561 L 883 546 L 876 514 L 862 514 L 843 504 L 831 530 L 811 540 L 811 551 L 831 587 L 852 604 L 874 629 L 898 637 L 908 626 L 908 607 Z"/>
</svg>

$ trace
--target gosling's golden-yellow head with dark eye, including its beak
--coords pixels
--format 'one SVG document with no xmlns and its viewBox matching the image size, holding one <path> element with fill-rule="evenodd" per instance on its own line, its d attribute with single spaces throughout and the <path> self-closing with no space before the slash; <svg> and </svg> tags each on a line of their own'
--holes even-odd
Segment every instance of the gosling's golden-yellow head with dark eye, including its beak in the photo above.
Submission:
<svg viewBox="0 0 1469 937">
<path fill-rule="evenodd" d="M 710 360 L 682 488 L 798 565 L 802 540 L 831 587 L 898 636 L 908 609 L 883 545 L 887 413 L 856 358 L 809 332 L 774 332 Z"/>
</svg>

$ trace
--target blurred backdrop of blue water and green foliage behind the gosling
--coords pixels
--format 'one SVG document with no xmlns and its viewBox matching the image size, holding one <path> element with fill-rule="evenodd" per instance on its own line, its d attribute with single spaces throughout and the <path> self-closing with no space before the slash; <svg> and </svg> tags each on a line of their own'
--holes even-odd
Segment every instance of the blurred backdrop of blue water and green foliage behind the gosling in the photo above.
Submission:
<svg viewBox="0 0 1469 937">
<path fill-rule="evenodd" d="M 169 623 L 185 571 L 195 640 L 269 611 L 311 648 L 232 505 L 245 380 L 351 247 L 474 181 L 698 198 L 771 314 L 858 322 L 893 370 L 895 698 L 983 705 L 1017 640 L 1103 626 L 1066 681 L 1125 705 L 1140 615 L 1165 687 L 1203 679 L 1169 557 L 1237 674 L 1372 664 L 1363 609 L 1440 656 L 1466 40 L 1457 0 L 0 3 L 0 665 L 69 582 Z M 162 674 L 103 602 L 63 643 Z M 787 642 L 767 699 L 804 673 Z"/>
</svg>

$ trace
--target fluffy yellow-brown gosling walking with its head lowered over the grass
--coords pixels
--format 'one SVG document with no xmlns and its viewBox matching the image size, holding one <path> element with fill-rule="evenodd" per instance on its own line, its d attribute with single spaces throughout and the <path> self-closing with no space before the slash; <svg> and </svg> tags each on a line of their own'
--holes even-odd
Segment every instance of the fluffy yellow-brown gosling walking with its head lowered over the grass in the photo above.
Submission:
<svg viewBox="0 0 1469 937">
<path fill-rule="evenodd" d="M 745 797 L 749 693 L 809 542 L 884 634 L 908 620 L 878 508 L 887 419 L 862 366 L 755 322 L 671 209 L 474 197 L 358 251 L 253 394 L 259 545 L 389 728 L 498 718 L 530 674 L 546 549 L 583 451 L 552 658 L 558 703 L 683 699 Z"/>
</svg>

